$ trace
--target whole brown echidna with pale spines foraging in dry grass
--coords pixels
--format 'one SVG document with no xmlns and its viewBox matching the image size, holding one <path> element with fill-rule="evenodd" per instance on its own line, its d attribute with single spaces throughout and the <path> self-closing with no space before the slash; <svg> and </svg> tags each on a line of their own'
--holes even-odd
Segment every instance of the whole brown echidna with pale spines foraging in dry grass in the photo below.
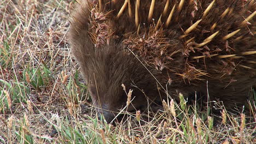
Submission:
<svg viewBox="0 0 256 144">
<path fill-rule="evenodd" d="M 128 111 L 195 91 L 230 107 L 256 85 L 255 9 L 254 0 L 85 0 L 69 39 L 107 122 L 127 89 Z"/>
</svg>

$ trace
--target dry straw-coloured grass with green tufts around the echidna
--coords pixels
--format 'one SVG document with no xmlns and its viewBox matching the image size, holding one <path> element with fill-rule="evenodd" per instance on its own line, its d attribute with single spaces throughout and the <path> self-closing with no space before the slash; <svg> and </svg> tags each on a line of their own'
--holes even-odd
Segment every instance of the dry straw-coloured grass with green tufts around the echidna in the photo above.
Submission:
<svg viewBox="0 0 256 144">
<path fill-rule="evenodd" d="M 66 39 L 72 3 L 0 2 L 0 143 L 256 142 L 255 98 L 248 112 L 213 116 L 180 95 L 115 127 L 97 121 Z"/>
</svg>

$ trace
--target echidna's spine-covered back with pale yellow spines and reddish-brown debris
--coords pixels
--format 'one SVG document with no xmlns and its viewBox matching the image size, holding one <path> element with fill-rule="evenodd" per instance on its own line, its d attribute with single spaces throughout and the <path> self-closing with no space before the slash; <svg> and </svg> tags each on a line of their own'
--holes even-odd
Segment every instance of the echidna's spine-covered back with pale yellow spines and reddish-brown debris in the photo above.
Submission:
<svg viewBox="0 0 256 144">
<path fill-rule="evenodd" d="M 100 0 L 89 9 L 96 49 L 116 43 L 177 79 L 255 75 L 253 0 Z"/>
</svg>

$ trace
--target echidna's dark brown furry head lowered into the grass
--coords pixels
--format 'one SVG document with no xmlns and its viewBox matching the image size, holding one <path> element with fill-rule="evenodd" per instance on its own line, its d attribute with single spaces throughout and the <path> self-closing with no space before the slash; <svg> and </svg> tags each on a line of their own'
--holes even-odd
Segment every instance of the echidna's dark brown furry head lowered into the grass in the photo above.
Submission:
<svg viewBox="0 0 256 144">
<path fill-rule="evenodd" d="M 121 109 L 135 111 L 156 97 L 153 77 L 138 59 L 117 46 L 95 49 L 86 58 L 83 72 L 88 81 L 89 92 L 99 115 L 109 123 Z M 112 50 L 113 49 L 113 50 Z M 125 88 L 121 85 L 124 84 Z M 155 85 L 155 89 L 153 86 Z M 131 104 L 126 106 L 127 94 L 132 89 Z M 146 94 L 143 93 L 147 92 Z M 146 97 L 147 95 L 147 97 Z M 150 96 L 152 95 L 152 96 Z"/>
</svg>

